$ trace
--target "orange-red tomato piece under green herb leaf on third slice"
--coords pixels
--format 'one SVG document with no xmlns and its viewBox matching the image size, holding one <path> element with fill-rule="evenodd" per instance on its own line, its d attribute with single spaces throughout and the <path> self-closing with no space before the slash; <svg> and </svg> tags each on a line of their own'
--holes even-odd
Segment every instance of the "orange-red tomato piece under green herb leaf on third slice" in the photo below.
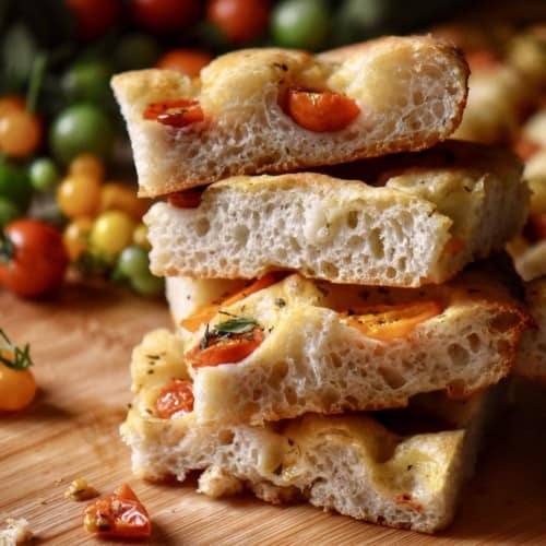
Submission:
<svg viewBox="0 0 546 546">
<path fill-rule="evenodd" d="M 193 368 L 239 363 L 252 354 L 264 339 L 263 331 L 259 327 L 240 334 L 205 336 L 201 343 L 186 353 L 186 358 Z"/>
</svg>

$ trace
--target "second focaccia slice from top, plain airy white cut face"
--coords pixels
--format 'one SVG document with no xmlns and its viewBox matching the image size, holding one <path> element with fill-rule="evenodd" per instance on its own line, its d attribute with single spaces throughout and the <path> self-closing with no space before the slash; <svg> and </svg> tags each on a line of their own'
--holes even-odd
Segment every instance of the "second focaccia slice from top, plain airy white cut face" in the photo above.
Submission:
<svg viewBox="0 0 546 546">
<path fill-rule="evenodd" d="M 201 278 L 294 270 L 332 283 L 442 283 L 521 230 L 521 168 L 508 150 L 447 142 L 342 169 L 370 185 L 314 173 L 230 178 L 197 207 L 152 206 L 151 266 Z"/>
</svg>

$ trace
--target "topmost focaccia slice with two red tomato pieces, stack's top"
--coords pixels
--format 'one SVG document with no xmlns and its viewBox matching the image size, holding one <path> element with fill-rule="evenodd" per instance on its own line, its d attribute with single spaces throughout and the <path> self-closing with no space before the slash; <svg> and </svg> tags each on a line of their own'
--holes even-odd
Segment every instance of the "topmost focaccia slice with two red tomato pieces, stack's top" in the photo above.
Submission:
<svg viewBox="0 0 546 546">
<path fill-rule="evenodd" d="M 199 81 L 145 70 L 112 87 L 141 195 L 233 175 L 285 173 L 423 150 L 458 127 L 468 68 L 429 37 L 389 37 L 312 56 L 249 49 Z"/>
</svg>

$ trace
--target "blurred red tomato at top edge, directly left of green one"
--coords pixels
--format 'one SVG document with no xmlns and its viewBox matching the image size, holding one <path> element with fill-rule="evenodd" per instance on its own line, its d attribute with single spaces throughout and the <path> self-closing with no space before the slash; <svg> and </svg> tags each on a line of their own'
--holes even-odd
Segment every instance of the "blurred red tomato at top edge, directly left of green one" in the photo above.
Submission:
<svg viewBox="0 0 546 546">
<path fill-rule="evenodd" d="M 206 16 L 233 44 L 265 34 L 270 16 L 268 0 L 209 0 Z"/>
</svg>

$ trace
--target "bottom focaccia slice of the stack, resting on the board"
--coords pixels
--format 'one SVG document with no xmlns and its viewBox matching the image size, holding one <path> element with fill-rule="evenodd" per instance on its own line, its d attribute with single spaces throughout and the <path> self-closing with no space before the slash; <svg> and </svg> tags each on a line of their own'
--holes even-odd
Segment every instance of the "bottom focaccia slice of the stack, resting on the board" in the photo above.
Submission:
<svg viewBox="0 0 546 546">
<path fill-rule="evenodd" d="M 307 499 L 317 507 L 393 527 L 434 532 L 453 518 L 460 489 L 474 460 L 495 395 L 466 402 L 424 399 L 428 416 L 449 423 L 423 431 L 415 425 L 393 431 L 371 416 L 306 415 L 252 427 L 199 425 L 186 413 L 157 415 L 157 401 L 173 378 L 191 387 L 180 339 L 162 330 L 147 334 L 133 352 L 135 397 L 121 427 L 132 450 L 133 472 L 144 478 L 204 471 L 199 489 L 212 497 L 252 490 L 270 502 Z M 154 373 L 150 373 L 154 370 Z"/>
</svg>

